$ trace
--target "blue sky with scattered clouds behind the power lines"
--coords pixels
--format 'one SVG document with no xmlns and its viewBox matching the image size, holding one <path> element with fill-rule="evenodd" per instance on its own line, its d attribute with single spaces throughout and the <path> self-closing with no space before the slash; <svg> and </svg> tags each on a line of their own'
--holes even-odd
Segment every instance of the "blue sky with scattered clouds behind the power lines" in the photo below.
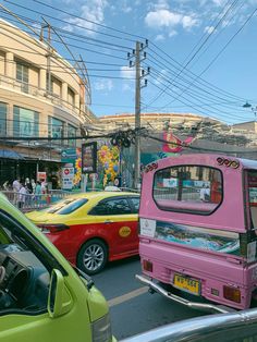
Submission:
<svg viewBox="0 0 257 342">
<path fill-rule="evenodd" d="M 71 63 L 83 58 L 90 109 L 98 117 L 134 112 L 135 71 L 128 68 L 127 52 L 136 40 L 144 45 L 148 39 L 142 51 L 142 69 L 150 68 L 147 87 L 142 88 L 142 112 L 195 113 L 229 124 L 255 120 L 257 0 L 0 3 L 35 29 L 44 17 L 54 27 L 51 38 L 58 51 Z M 3 10 L 0 16 L 19 25 Z M 246 101 L 253 109 L 242 107 Z"/>
</svg>

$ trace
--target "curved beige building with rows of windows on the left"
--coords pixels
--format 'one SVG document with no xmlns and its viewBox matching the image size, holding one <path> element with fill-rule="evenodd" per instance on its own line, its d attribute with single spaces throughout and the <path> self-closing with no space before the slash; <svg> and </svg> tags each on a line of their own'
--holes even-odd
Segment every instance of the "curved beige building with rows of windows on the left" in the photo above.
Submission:
<svg viewBox="0 0 257 342">
<path fill-rule="evenodd" d="M 96 121 L 88 84 L 47 41 L 3 20 L 0 41 L 0 183 L 57 173 L 61 150 L 81 145 L 65 137 Z"/>
</svg>

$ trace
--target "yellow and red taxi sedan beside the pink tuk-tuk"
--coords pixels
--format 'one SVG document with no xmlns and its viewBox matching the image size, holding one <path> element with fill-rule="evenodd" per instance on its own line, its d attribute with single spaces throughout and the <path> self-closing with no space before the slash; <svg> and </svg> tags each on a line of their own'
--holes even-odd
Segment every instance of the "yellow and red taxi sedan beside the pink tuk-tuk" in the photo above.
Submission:
<svg viewBox="0 0 257 342">
<path fill-rule="evenodd" d="M 107 261 L 138 254 L 138 209 L 137 193 L 94 192 L 26 216 L 69 261 L 94 274 Z"/>
</svg>

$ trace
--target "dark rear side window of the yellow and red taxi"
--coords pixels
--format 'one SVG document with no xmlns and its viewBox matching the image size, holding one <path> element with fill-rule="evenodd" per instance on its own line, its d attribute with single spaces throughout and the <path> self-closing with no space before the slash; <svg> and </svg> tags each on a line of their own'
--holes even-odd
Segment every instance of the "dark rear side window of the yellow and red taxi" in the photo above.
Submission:
<svg viewBox="0 0 257 342">
<path fill-rule="evenodd" d="M 131 207 L 125 198 L 105 199 L 96 205 L 89 215 L 125 215 L 132 213 Z"/>
</svg>

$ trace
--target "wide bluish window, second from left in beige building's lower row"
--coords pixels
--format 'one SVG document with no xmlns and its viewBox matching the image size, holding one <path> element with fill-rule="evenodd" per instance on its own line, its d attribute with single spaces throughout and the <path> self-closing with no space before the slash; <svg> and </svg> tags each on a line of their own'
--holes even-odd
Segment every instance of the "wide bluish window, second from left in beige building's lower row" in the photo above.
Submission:
<svg viewBox="0 0 257 342">
<path fill-rule="evenodd" d="M 38 137 L 39 113 L 29 109 L 13 107 L 13 135 Z"/>
</svg>

